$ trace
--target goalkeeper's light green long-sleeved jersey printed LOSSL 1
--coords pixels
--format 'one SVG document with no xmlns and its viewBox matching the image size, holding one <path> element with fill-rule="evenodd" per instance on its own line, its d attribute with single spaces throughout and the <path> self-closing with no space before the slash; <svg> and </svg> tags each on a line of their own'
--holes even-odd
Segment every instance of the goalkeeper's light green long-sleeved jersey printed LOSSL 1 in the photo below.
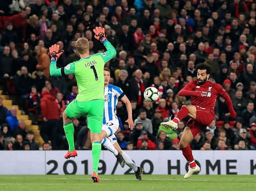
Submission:
<svg viewBox="0 0 256 191">
<path fill-rule="evenodd" d="M 51 61 L 51 76 L 75 75 L 78 86 L 76 100 L 79 102 L 104 99 L 104 65 L 116 55 L 115 48 L 110 42 L 105 41 L 104 46 L 106 52 L 81 58 L 66 65 L 65 68 L 57 68 L 56 61 Z"/>
</svg>

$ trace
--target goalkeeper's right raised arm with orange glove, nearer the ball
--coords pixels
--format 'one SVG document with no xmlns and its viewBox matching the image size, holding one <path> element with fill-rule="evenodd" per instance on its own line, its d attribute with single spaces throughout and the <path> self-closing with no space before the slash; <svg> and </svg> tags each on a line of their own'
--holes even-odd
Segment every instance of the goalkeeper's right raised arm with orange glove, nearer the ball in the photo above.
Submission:
<svg viewBox="0 0 256 191">
<path fill-rule="evenodd" d="M 110 42 L 106 39 L 105 36 L 105 29 L 102 27 L 97 27 L 93 29 L 93 32 L 95 33 L 94 38 L 96 38 L 98 41 L 102 42 L 103 45 L 106 47 L 107 51 L 102 53 L 102 59 L 106 63 L 110 59 L 112 59 L 116 55 L 115 47 L 112 46 Z"/>
</svg>

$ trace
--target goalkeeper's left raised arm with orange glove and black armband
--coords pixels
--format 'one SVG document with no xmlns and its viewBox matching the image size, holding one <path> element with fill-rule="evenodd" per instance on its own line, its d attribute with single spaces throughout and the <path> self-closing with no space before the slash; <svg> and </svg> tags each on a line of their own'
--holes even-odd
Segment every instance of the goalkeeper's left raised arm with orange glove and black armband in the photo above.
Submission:
<svg viewBox="0 0 256 191">
<path fill-rule="evenodd" d="M 74 64 L 68 64 L 65 68 L 57 68 L 57 59 L 62 55 L 64 50 L 59 51 L 60 45 L 54 44 L 49 48 L 51 54 L 51 64 L 50 64 L 50 75 L 51 76 L 64 76 L 66 74 L 74 74 L 75 66 Z"/>
</svg>

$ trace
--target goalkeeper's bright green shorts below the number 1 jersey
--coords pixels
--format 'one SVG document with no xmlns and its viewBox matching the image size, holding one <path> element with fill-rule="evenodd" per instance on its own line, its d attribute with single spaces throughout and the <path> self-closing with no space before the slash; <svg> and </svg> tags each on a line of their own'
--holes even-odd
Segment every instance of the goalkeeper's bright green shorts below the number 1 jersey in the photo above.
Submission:
<svg viewBox="0 0 256 191">
<path fill-rule="evenodd" d="M 104 112 L 104 99 L 95 99 L 88 102 L 79 102 L 74 99 L 65 110 L 71 119 L 86 115 L 88 128 L 92 133 L 101 133 Z"/>
</svg>

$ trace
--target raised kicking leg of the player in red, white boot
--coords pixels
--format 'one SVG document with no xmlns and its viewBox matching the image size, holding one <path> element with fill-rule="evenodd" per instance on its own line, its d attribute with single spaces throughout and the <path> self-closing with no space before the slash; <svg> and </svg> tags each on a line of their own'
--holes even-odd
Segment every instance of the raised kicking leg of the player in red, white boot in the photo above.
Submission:
<svg viewBox="0 0 256 191">
<path fill-rule="evenodd" d="M 178 112 L 177 117 L 167 122 L 162 122 L 161 125 L 163 125 L 163 127 L 176 130 L 178 128 L 178 123 L 180 122 L 180 120 L 184 119 L 187 115 L 189 115 L 193 119 L 196 118 L 195 106 L 181 106 L 181 110 Z"/>
</svg>

